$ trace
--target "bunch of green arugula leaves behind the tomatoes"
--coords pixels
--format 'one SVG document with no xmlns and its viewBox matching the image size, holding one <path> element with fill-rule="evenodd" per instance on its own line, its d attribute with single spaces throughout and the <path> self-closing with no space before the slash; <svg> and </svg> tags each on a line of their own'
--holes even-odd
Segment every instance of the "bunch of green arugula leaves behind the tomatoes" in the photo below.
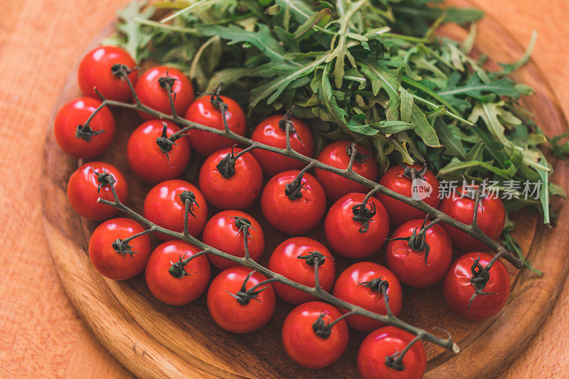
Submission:
<svg viewBox="0 0 569 379">
<path fill-rule="evenodd" d="M 220 82 L 242 102 L 251 124 L 294 105 L 319 136 L 367 144 L 382 169 L 425 162 L 441 178 L 521 189 L 509 210 L 532 207 L 550 222 L 547 139 L 523 109 L 527 85 L 509 75 L 535 43 L 499 71 L 472 58 L 482 12 L 429 0 L 200 0 L 134 2 L 116 36 L 137 60 L 180 68 L 201 92 Z M 461 43 L 437 36 L 442 23 L 470 26 Z"/>
</svg>

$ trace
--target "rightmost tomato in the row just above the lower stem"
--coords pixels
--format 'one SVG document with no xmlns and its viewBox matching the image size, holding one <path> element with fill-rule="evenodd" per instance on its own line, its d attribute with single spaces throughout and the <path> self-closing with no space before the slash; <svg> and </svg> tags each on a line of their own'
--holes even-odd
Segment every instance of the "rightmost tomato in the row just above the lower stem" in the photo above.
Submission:
<svg viewBox="0 0 569 379">
<path fill-rule="evenodd" d="M 377 314 L 387 314 L 383 294 L 360 284 L 379 277 L 386 280 L 389 284 L 387 290 L 389 306 L 393 315 L 397 316 L 401 311 L 401 306 L 403 306 L 401 284 L 393 272 L 377 263 L 358 262 L 346 268 L 336 280 L 334 296 Z M 345 309 L 340 310 L 342 313 L 346 313 Z M 346 322 L 353 329 L 359 331 L 372 331 L 383 325 L 381 321 L 358 315 L 349 316 Z"/>
</svg>

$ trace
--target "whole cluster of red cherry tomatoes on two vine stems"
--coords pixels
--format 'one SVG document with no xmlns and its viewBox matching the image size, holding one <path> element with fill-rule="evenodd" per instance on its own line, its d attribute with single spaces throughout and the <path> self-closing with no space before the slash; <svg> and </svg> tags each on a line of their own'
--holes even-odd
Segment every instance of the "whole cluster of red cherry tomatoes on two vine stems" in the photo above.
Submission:
<svg viewBox="0 0 569 379">
<path fill-rule="evenodd" d="M 68 154 L 93 159 L 102 154 L 115 134 L 115 120 L 98 94 L 107 99 L 129 102 L 128 83 L 112 70 L 134 68 L 128 53 L 116 47 L 102 46 L 83 58 L 78 81 L 86 97 L 64 105 L 55 119 L 55 137 Z M 139 100 L 148 107 L 176 114 L 192 122 L 223 129 L 223 117 L 216 102 L 227 106 L 229 128 L 245 135 L 243 110 L 234 100 L 218 96 L 194 100 L 191 82 L 175 68 L 158 66 L 142 75 L 128 71 L 129 80 Z M 170 91 L 170 93 L 168 93 Z M 315 263 L 319 284 L 335 297 L 378 314 L 386 314 L 381 285 L 388 286 L 390 309 L 395 316 L 403 305 L 400 282 L 411 287 L 428 287 L 444 279 L 447 304 L 469 319 L 483 319 L 496 314 L 509 295 L 509 275 L 501 262 L 494 262 L 481 296 L 472 298 L 476 289 L 471 279 L 491 256 L 478 252 L 484 245 L 449 225 L 425 225 L 425 213 L 388 196 L 366 196 L 368 188 L 328 171 L 304 172 L 302 162 L 261 149 L 243 152 L 232 147 L 230 139 L 204 131 L 176 134 L 180 127 L 171 122 L 146 120 L 132 132 L 127 144 L 130 169 L 141 181 L 154 183 L 144 199 L 143 215 L 156 225 L 176 232 L 184 231 L 186 206 L 190 205 L 188 233 L 211 247 L 237 257 L 245 256 L 245 240 L 250 257 L 258 261 L 265 250 L 262 225 L 243 209 L 260 198 L 262 215 L 274 228 L 293 235 L 270 255 L 268 268 L 294 282 L 315 285 Z M 314 154 L 314 136 L 300 119 L 274 115 L 258 124 L 252 141 L 285 148 L 285 125 L 289 123 L 292 148 L 306 156 Z M 87 126 L 87 127 L 86 127 Z M 206 157 L 198 186 L 179 179 L 191 154 Z M 353 156 L 355 154 L 355 156 Z M 317 159 L 324 164 L 352 170 L 371 181 L 378 179 L 378 166 L 366 146 L 337 141 L 324 147 Z M 415 170 L 415 175 L 410 175 Z M 263 175 L 270 176 L 264 184 Z M 425 202 L 453 218 L 470 223 L 474 200 L 454 193 L 442 201 L 435 175 L 420 166 L 393 166 L 379 178 L 386 188 L 405 196 L 412 195 L 412 177 L 420 176 L 432 187 Z M 235 262 L 213 255 L 198 254 L 201 249 L 168 235 L 156 233 L 163 241 L 152 250 L 151 238 L 144 228 L 129 218 L 112 218 L 118 210 L 97 203 L 97 198 L 113 200 L 112 186 L 119 200 L 128 197 L 128 185 L 119 170 L 100 161 L 89 161 L 70 176 L 68 199 L 80 215 L 104 221 L 92 234 L 89 255 L 101 274 L 111 279 L 129 279 L 144 271 L 154 296 L 167 304 L 183 305 L 207 291 L 208 310 L 216 324 L 233 333 L 248 333 L 262 327 L 275 311 L 275 294 L 292 304 L 299 304 L 285 319 L 282 343 L 287 354 L 300 365 L 323 368 L 344 353 L 348 327 L 373 331 L 361 343 L 358 369 L 363 378 L 420 378 L 425 371 L 425 351 L 415 343 L 403 357 L 403 372 L 388 367 L 385 358 L 403 351 L 413 337 L 410 333 L 361 315 L 334 323 L 346 309 L 316 301 L 311 294 L 267 278 Z M 327 209 L 327 201 L 331 207 Z M 208 206 L 219 213 L 208 219 Z M 496 239 L 504 226 L 504 205 L 498 198 L 484 198 L 477 216 L 479 228 Z M 111 219 L 110 219 L 111 218 Z M 324 220 L 327 246 L 303 235 Z M 395 231 L 389 235 L 390 228 Z M 422 233 L 421 233 L 422 232 Z M 138 235 L 140 233 L 140 235 Z M 135 236 L 133 238 L 133 236 Z M 385 254 L 388 267 L 365 260 L 381 250 L 389 237 Z M 126 242 L 125 242 L 126 241 Z M 452 246 L 469 250 L 451 265 Z M 334 252 L 334 253 L 333 253 Z M 334 255 L 358 260 L 336 277 Z M 317 260 L 317 262 L 314 262 Z M 211 267 L 222 270 L 211 279 Z M 330 326 L 332 323 L 333 326 Z M 403 376 L 397 376 L 401 375 Z"/>
</svg>

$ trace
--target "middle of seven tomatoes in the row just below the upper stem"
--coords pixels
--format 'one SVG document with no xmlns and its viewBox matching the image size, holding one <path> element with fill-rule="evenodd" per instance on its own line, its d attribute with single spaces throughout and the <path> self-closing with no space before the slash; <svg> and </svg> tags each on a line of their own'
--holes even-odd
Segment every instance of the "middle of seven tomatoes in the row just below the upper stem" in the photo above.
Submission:
<svg viewBox="0 0 569 379">
<path fill-rule="evenodd" d="M 274 176 L 261 193 L 262 215 L 274 228 L 292 235 L 314 229 L 326 211 L 324 190 L 314 176 L 304 174 L 301 186 L 287 189 L 299 172 L 291 170 Z"/>
</svg>

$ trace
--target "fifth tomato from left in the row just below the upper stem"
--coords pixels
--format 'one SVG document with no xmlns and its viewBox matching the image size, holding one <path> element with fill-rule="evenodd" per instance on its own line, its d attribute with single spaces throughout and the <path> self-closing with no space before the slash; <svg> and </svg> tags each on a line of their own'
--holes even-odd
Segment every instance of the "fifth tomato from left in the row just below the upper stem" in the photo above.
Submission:
<svg viewBox="0 0 569 379">
<path fill-rule="evenodd" d="M 349 258 L 364 258 L 377 252 L 385 242 L 389 233 L 389 216 L 380 201 L 369 198 L 368 204 L 373 204 L 376 214 L 369 220 L 368 230 L 361 233 L 363 224 L 353 220 L 354 205 L 363 203 L 366 197 L 363 193 L 349 193 L 341 197 L 331 206 L 324 231 L 326 240 L 332 250 Z M 366 205 L 371 209 L 371 205 Z"/>
</svg>

